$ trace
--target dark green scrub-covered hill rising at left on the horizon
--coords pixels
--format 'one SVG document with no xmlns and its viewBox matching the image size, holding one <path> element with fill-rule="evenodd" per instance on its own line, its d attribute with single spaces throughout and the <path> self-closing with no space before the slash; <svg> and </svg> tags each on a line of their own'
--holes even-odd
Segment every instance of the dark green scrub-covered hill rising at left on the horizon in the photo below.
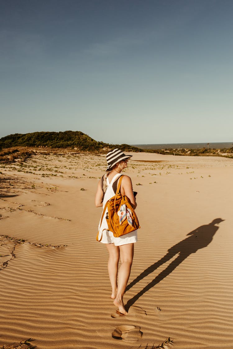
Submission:
<svg viewBox="0 0 233 349">
<path fill-rule="evenodd" d="M 86 151 L 121 148 L 123 151 L 143 151 L 128 144 L 108 144 L 95 141 L 81 131 L 33 132 L 10 134 L 0 139 L 0 149 L 11 147 L 77 148 Z"/>
</svg>

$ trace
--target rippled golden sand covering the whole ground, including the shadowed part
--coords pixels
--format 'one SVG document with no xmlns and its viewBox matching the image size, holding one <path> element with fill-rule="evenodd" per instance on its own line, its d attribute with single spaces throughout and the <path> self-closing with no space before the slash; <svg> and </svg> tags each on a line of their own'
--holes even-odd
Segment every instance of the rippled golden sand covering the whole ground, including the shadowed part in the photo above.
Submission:
<svg viewBox="0 0 233 349">
<path fill-rule="evenodd" d="M 124 317 L 95 239 L 105 157 L 1 166 L 0 347 L 233 348 L 233 159 L 131 155 L 141 229 Z"/>
</svg>

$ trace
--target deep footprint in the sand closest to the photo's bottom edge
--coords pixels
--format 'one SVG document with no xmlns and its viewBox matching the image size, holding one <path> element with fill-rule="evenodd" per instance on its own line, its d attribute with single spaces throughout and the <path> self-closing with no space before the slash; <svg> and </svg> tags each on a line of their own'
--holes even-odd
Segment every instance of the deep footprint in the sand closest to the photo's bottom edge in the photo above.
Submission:
<svg viewBox="0 0 233 349">
<path fill-rule="evenodd" d="M 142 335 L 143 332 L 140 331 L 140 327 L 133 325 L 117 326 L 112 332 L 112 338 L 125 342 L 137 342 L 141 339 Z"/>
</svg>

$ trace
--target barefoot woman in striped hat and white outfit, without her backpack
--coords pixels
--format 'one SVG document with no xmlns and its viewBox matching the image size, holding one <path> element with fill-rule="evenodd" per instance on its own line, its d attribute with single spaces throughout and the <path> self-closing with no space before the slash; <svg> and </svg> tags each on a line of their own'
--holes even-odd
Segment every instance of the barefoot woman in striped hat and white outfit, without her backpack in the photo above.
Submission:
<svg viewBox="0 0 233 349">
<path fill-rule="evenodd" d="M 100 179 L 97 192 L 95 195 L 95 206 L 105 206 L 105 203 L 116 193 L 117 183 L 121 177 L 122 170 L 127 168 L 127 162 L 132 155 L 125 155 L 120 149 L 114 149 L 107 154 L 108 167 L 104 176 Z M 121 194 L 128 196 L 133 208 L 137 206 L 133 195 L 132 182 L 129 176 L 123 176 L 121 184 Z M 137 230 L 123 235 L 114 237 L 113 233 L 108 230 L 108 224 L 105 214 L 101 226 L 99 225 L 99 239 L 102 234 L 101 242 L 106 244 L 109 252 L 108 273 L 112 287 L 111 298 L 114 299 L 114 305 L 118 307 L 117 313 L 126 315 L 127 312 L 123 303 L 123 295 L 127 282 L 129 280 L 134 243 L 137 242 Z M 118 272 L 118 262 L 121 255 L 121 267 Z M 118 282 L 117 282 L 118 275 Z"/>
</svg>

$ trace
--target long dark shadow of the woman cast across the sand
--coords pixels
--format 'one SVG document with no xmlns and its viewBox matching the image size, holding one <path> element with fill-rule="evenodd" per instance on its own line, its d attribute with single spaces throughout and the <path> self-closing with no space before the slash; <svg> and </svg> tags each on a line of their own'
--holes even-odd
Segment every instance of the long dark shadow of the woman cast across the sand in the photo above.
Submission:
<svg viewBox="0 0 233 349">
<path fill-rule="evenodd" d="M 169 248 L 168 253 L 162 257 L 159 261 L 152 264 L 150 267 L 144 270 L 140 275 L 136 277 L 129 285 L 126 287 L 126 291 L 128 291 L 133 285 L 142 280 L 145 276 L 154 272 L 155 269 L 159 268 L 163 263 L 166 263 L 170 259 L 172 259 L 177 253 L 179 255 L 174 259 L 167 268 L 165 268 L 159 275 L 157 275 L 150 283 L 148 283 L 137 295 L 128 300 L 125 305 L 126 311 L 129 310 L 131 305 L 133 305 L 136 300 L 140 296 L 142 296 L 146 291 L 150 290 L 154 285 L 158 284 L 161 280 L 163 280 L 167 275 L 173 272 L 173 270 L 180 265 L 191 253 L 197 252 L 200 248 L 204 248 L 208 246 L 216 231 L 219 227 L 216 227 L 215 224 L 219 224 L 223 222 L 221 218 L 216 218 L 211 223 L 202 225 L 197 229 L 191 231 L 187 235 L 188 238 L 182 240 L 178 244 Z"/>
</svg>

